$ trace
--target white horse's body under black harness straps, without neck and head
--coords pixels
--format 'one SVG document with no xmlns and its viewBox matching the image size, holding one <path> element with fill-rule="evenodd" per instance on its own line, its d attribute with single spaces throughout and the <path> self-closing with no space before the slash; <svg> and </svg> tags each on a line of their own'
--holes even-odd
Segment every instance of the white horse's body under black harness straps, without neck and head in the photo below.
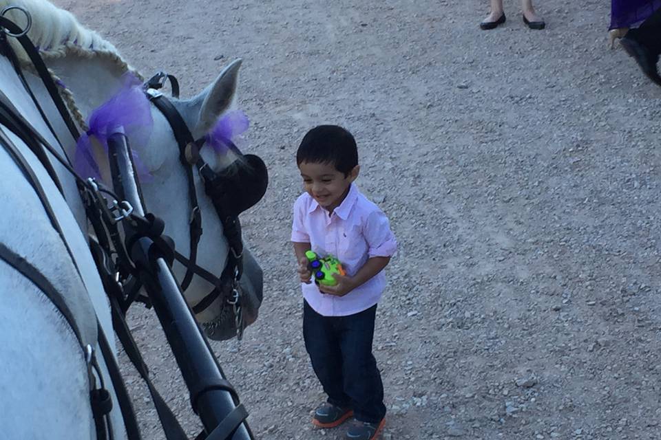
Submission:
<svg viewBox="0 0 661 440">
<path fill-rule="evenodd" d="M 0 58 L 3 86 L 18 80 L 6 58 Z M 10 75 L 8 75 L 10 73 Z M 13 75 L 11 75 L 13 74 Z M 6 89 L 21 114 L 34 121 L 46 140 L 53 142 L 28 94 L 17 97 L 20 83 Z M 12 93 L 10 94 L 10 90 Z M 13 96 L 12 96 L 13 95 Z M 32 109 L 30 109 L 32 107 Z M 41 122 L 41 124 L 39 123 Z M 107 299 L 98 278 L 85 236 L 70 206 L 60 195 L 39 159 L 8 130 L 10 140 L 28 160 L 43 186 L 48 201 L 62 227 L 67 243 L 76 256 L 81 282 L 63 241 L 21 170 L 0 148 L 0 203 L 6 209 L 0 242 L 36 267 L 79 318 L 87 340 L 96 340 L 98 317 L 108 335 L 112 335 Z M 63 177 L 63 184 L 70 179 Z M 68 182 L 71 183 L 71 182 Z M 83 351 L 66 320 L 53 303 L 32 281 L 13 267 L 0 262 L 0 420 L 7 439 L 93 439 L 96 436 L 90 407 L 90 385 Z M 85 319 L 87 317 L 87 319 Z M 110 341 L 114 346 L 114 338 Z M 99 353 L 98 345 L 95 350 Z M 105 362 L 100 360 L 106 370 Z M 112 384 L 105 378 L 112 393 Z M 113 393 L 114 394 L 114 393 Z M 118 406 L 112 410 L 113 425 L 123 426 Z M 123 429 L 116 429 L 125 438 Z"/>
</svg>

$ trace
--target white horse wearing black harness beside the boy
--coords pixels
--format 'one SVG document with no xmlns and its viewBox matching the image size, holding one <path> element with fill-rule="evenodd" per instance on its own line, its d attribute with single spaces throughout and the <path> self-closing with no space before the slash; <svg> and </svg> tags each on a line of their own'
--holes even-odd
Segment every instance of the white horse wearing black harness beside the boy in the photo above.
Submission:
<svg viewBox="0 0 661 440">
<path fill-rule="evenodd" d="M 40 48 L 41 56 L 59 84 L 61 96 L 65 98 L 78 126 L 85 131 L 86 118 L 112 96 L 120 87 L 123 74 L 132 72 L 132 68 L 111 44 L 83 28 L 70 13 L 47 1 L 0 0 L 0 10 L 9 5 L 17 5 L 30 12 L 32 26 L 28 36 Z M 26 24 L 20 10 L 11 10 L 6 17 L 19 25 Z M 14 67 L 4 56 L 0 56 L 0 91 L 45 140 L 60 148 L 62 157 L 73 158 L 76 144 L 48 91 L 39 76 L 30 70 L 30 63 L 21 47 L 15 44 L 14 39 L 9 40 L 13 41 L 30 88 L 61 144 L 48 129 Z M 235 94 L 239 67 L 240 61 L 229 65 L 195 98 L 172 100 L 194 137 L 204 135 L 229 108 Z M 169 123 L 160 111 L 152 109 L 151 112 L 154 129 L 149 144 L 132 145 L 153 176 L 153 181 L 142 186 L 146 208 L 165 220 L 165 233 L 176 241 L 177 250 L 187 256 L 190 248 L 187 177 L 180 164 L 178 146 Z M 104 333 L 109 336 L 112 349 L 115 349 L 107 298 L 87 245 L 88 224 L 76 181 L 51 157 L 50 162 L 63 186 L 63 197 L 39 159 L 21 138 L 2 124 L 0 131 L 17 146 L 34 170 L 63 232 L 61 237 L 54 229 L 41 199 L 16 159 L 6 148 L 0 147 L 0 203 L 3 206 L 0 245 L 5 256 L 18 256 L 17 264 L 34 268 L 43 275 L 45 283 L 34 283 L 24 272 L 17 270 L 17 265 L 8 263 L 6 258 L 0 259 L 0 438 L 94 439 L 96 432 L 90 408 L 90 380 L 85 353 L 81 351 L 80 342 L 67 320 L 44 292 L 44 285 L 52 285 L 54 292 L 61 295 L 76 320 L 80 338 L 94 347 L 97 353 L 100 353 L 96 342 L 97 318 Z M 201 153 L 217 170 L 236 159 L 231 153 L 220 156 L 210 149 Z M 107 157 L 97 154 L 96 158 L 102 174 L 107 173 Z M 202 188 L 197 174 L 195 178 L 196 187 Z M 211 201 L 201 190 L 198 201 L 204 230 L 198 250 L 198 265 L 220 276 L 226 264 L 228 244 Z M 75 261 L 72 261 L 70 254 Z M 185 268 L 175 264 L 174 272 L 181 279 Z M 207 281 L 193 277 L 186 292 L 189 304 L 198 303 L 209 293 L 210 287 Z M 248 319 L 254 320 L 261 300 L 262 278 L 260 268 L 247 252 L 244 255 L 242 287 L 253 298 L 244 307 L 248 308 Z M 207 328 L 223 325 L 218 322 L 223 309 L 221 303 L 219 298 L 197 316 Z M 114 435 L 115 438 L 125 438 L 107 366 L 103 358 L 98 357 L 105 386 L 113 398 L 110 418 Z"/>
</svg>

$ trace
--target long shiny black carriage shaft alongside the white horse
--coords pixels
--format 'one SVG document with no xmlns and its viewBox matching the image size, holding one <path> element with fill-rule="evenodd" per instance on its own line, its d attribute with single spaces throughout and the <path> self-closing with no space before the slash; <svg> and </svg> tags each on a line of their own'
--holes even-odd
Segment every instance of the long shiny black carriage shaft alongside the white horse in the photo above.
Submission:
<svg viewBox="0 0 661 440">
<path fill-rule="evenodd" d="M 111 135 L 108 138 L 108 147 L 112 175 L 116 176 L 115 192 L 131 203 L 136 214 L 143 216 L 141 195 L 136 185 L 135 169 L 129 157 L 125 135 Z M 131 236 L 136 234 L 129 223 L 124 222 L 127 243 L 131 241 Z M 154 254 L 154 248 L 154 240 L 142 237 L 129 252 L 134 261 L 151 268 L 153 282 L 145 283 L 145 290 L 191 393 L 193 410 L 200 417 L 204 430 L 211 433 L 209 439 L 216 440 L 213 430 L 235 410 L 238 403 L 235 403 L 235 397 L 227 391 L 232 388 L 225 379 L 207 338 L 193 317 L 174 275 L 165 259 Z M 218 437 L 218 440 L 224 438 Z M 231 439 L 253 439 L 246 421 L 242 421 Z"/>
</svg>

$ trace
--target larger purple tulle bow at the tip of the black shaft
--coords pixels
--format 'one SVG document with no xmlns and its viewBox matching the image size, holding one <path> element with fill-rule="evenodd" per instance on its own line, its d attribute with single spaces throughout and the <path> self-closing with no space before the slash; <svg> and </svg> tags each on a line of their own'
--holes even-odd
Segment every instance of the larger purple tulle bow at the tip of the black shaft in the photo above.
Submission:
<svg viewBox="0 0 661 440">
<path fill-rule="evenodd" d="M 108 153 L 108 135 L 112 134 L 117 127 L 123 127 L 124 133 L 129 140 L 129 146 L 145 146 L 149 142 L 151 128 L 154 121 L 151 119 L 151 108 L 149 100 L 145 96 L 140 80 L 132 74 L 125 74 L 121 89 L 112 98 L 107 100 L 90 115 L 87 125 L 90 129 L 83 133 L 76 145 L 76 157 L 74 167 L 82 177 L 101 178 L 98 164 L 92 153 L 92 140 L 96 140 Z M 149 181 L 151 175 L 138 153 L 131 148 L 138 177 L 141 181 Z"/>
</svg>

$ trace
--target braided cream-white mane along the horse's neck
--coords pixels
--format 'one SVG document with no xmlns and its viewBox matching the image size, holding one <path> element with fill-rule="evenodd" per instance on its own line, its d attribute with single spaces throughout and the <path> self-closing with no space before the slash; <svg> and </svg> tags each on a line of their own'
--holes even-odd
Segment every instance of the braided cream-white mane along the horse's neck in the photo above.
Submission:
<svg viewBox="0 0 661 440">
<path fill-rule="evenodd" d="M 71 12 L 60 9 L 44 0 L 0 0 L 0 10 L 6 6 L 19 6 L 30 13 L 32 26 L 28 32 L 28 37 L 45 61 L 67 55 L 76 55 L 83 58 L 103 58 L 115 63 L 123 72 L 132 72 L 135 76 L 144 80 L 143 76 L 129 66 L 124 58 L 120 56 L 114 45 L 93 30 L 81 25 Z M 20 10 L 10 10 L 6 13 L 6 17 L 21 27 L 26 23 L 25 14 Z M 14 52 L 16 52 L 21 67 L 32 69 L 34 72 L 32 62 L 23 50 L 21 43 L 16 39 L 8 39 L 8 41 Z M 60 78 L 51 69 L 48 70 L 58 85 L 60 94 L 70 111 L 72 111 L 74 118 L 76 118 L 81 128 L 86 130 L 85 118 L 78 110 L 71 91 L 63 85 Z"/>
</svg>

